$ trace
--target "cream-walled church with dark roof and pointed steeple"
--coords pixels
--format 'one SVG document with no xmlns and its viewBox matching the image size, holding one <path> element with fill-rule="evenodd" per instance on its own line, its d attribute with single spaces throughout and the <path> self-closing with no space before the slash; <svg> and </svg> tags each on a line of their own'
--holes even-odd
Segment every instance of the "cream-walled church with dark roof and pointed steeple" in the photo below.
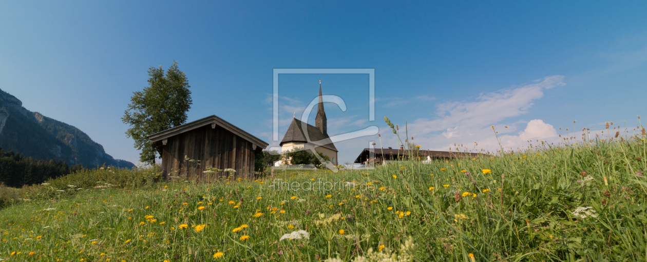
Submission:
<svg viewBox="0 0 647 262">
<path fill-rule="evenodd" d="M 287 128 L 287 132 L 285 132 L 285 136 L 283 136 L 283 140 L 279 144 L 281 146 L 281 152 L 314 148 L 316 152 L 323 153 L 329 157 L 333 165 L 338 165 L 337 148 L 330 141 L 326 121 L 325 111 L 323 110 L 322 81 L 320 80 L 319 103 L 317 105 L 317 116 L 314 119 L 314 126 L 292 117 L 292 123 L 290 123 L 290 127 Z M 303 132 L 303 128 L 307 128 L 305 130 L 306 132 Z"/>
</svg>

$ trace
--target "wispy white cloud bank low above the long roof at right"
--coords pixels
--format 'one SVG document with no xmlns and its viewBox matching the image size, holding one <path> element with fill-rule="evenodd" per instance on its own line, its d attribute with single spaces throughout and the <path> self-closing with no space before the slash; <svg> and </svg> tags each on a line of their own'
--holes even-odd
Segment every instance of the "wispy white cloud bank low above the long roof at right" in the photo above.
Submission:
<svg viewBox="0 0 647 262">
<path fill-rule="evenodd" d="M 490 152 L 496 152 L 501 146 L 505 150 L 518 150 L 518 148 L 527 147 L 529 139 L 557 142 L 560 137 L 557 136 L 556 130 L 552 125 L 544 123 L 542 119 L 534 119 L 527 123 L 522 119 L 512 119 L 512 121 L 507 119 L 526 114 L 532 107 L 533 101 L 543 97 L 544 90 L 564 86 L 563 80 L 564 76 L 548 76 L 532 81 L 529 85 L 513 86 L 480 94 L 474 101 L 445 101 L 437 105 L 437 117 L 415 119 L 408 125 L 409 137 L 402 136 L 401 139 L 404 141 L 406 138 L 414 137 L 413 141 L 417 145 L 430 150 L 445 151 L 450 148 L 455 150 L 454 144 L 463 144 L 463 148 L 474 151 L 482 148 Z M 395 119 L 391 121 L 400 122 Z M 509 122 L 502 123 L 503 121 Z M 517 133 L 517 127 L 523 126 L 524 123 L 525 129 Z M 495 126 L 496 131 L 499 132 L 500 146 L 490 126 Z M 505 128 L 505 126 L 509 127 Z M 402 123 L 400 123 L 400 130 L 402 130 Z M 388 146 L 395 148 L 400 145 L 391 128 L 382 126 L 380 134 L 382 134 L 382 146 L 385 148 Z M 359 140 L 337 145 L 340 150 L 340 160 L 353 160 L 358 154 L 353 146 L 366 147 L 367 141 L 378 141 L 378 137 L 362 137 Z M 537 145 L 538 142 L 534 140 L 533 145 Z M 376 147 L 380 147 L 379 142 Z M 351 150 L 353 153 L 346 153 L 345 150 Z"/>
</svg>

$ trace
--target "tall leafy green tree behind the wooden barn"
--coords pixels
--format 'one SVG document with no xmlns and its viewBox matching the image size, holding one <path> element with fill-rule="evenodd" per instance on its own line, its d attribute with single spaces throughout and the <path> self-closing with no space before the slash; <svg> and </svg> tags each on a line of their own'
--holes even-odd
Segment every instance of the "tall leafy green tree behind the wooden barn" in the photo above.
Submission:
<svg viewBox="0 0 647 262">
<path fill-rule="evenodd" d="M 131 127 L 126 137 L 135 140 L 135 148 L 141 150 L 139 159 L 142 163 L 155 163 L 155 146 L 148 136 L 186 122 L 186 112 L 193 103 L 186 75 L 177 68 L 177 62 L 166 71 L 162 66 L 151 66 L 148 70 L 149 86 L 143 91 L 133 92 L 131 103 L 122 117 L 122 121 Z"/>
</svg>

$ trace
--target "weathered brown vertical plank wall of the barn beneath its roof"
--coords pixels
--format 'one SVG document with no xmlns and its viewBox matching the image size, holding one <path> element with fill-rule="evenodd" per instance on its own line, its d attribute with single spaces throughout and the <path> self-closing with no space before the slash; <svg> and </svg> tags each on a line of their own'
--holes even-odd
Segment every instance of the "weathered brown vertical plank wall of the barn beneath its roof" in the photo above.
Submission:
<svg viewBox="0 0 647 262">
<path fill-rule="evenodd" d="M 206 167 L 233 168 L 236 173 L 228 179 L 253 179 L 254 153 L 249 141 L 220 126 L 203 126 L 167 139 L 162 149 L 162 174 L 167 179 L 180 177 L 210 182 L 227 178 L 229 174 L 204 174 Z"/>
</svg>

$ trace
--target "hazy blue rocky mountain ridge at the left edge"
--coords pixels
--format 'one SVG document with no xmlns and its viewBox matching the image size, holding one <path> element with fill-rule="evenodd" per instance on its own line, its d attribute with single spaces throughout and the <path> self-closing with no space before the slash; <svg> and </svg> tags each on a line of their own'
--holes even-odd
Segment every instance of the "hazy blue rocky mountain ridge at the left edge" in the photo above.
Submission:
<svg viewBox="0 0 647 262">
<path fill-rule="evenodd" d="M 104 146 L 94 142 L 78 128 L 31 112 L 16 97 L 0 90 L 0 147 L 34 159 L 61 159 L 69 165 L 135 165 L 105 154 Z"/>
</svg>

